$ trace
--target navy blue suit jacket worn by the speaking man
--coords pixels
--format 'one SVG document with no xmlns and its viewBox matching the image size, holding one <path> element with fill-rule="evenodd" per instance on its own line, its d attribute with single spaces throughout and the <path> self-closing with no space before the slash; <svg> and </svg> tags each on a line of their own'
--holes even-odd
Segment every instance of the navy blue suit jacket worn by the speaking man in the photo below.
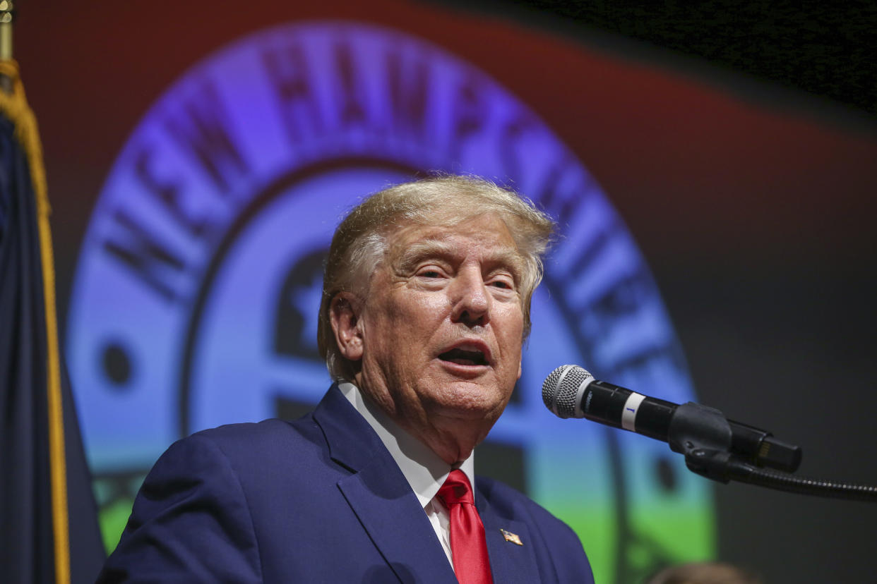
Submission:
<svg viewBox="0 0 877 584">
<path fill-rule="evenodd" d="M 594 581 L 566 524 L 503 483 L 478 477 L 475 491 L 496 584 Z M 168 448 L 98 579 L 119 580 L 457 581 L 396 461 L 335 386 L 302 419 Z"/>
</svg>

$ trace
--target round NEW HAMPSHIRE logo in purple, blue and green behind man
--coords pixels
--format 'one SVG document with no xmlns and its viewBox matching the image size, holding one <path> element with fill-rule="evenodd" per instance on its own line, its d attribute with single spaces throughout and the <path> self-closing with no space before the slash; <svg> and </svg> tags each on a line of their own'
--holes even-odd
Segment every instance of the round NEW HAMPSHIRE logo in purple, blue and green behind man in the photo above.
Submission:
<svg viewBox="0 0 877 584">
<path fill-rule="evenodd" d="M 594 179 L 487 74 L 402 33 L 333 22 L 259 32 L 194 67 L 103 187 L 67 351 L 105 531 L 118 536 L 174 440 L 317 403 L 330 383 L 316 330 L 332 231 L 363 195 L 435 170 L 511 186 L 562 232 L 479 473 L 567 521 L 598 580 L 712 554 L 709 487 L 666 444 L 541 404 L 563 363 L 693 397 L 652 277 Z"/>
</svg>

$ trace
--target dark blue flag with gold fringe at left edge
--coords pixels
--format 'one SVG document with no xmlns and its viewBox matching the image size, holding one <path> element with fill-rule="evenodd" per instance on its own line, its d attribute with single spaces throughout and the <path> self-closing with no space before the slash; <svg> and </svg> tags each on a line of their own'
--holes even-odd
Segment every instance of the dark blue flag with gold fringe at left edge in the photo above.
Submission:
<svg viewBox="0 0 877 584">
<path fill-rule="evenodd" d="M 91 582 L 96 504 L 59 350 L 36 119 L 0 60 L 0 580 Z"/>
</svg>

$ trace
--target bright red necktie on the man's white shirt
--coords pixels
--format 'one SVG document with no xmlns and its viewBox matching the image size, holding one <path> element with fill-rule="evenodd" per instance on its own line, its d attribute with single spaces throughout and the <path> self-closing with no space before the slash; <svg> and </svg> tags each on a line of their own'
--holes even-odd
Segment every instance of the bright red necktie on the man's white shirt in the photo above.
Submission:
<svg viewBox="0 0 877 584">
<path fill-rule="evenodd" d="M 451 471 L 438 496 L 451 515 L 451 556 L 457 580 L 460 584 L 492 584 L 484 524 L 462 470 Z"/>
</svg>

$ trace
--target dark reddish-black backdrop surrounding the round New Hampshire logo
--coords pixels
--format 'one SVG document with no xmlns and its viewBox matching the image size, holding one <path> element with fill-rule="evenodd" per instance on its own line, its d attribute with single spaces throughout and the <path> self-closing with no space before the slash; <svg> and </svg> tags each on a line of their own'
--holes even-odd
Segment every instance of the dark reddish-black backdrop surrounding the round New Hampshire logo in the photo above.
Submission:
<svg viewBox="0 0 877 584">
<path fill-rule="evenodd" d="M 652 268 L 702 403 L 800 444 L 801 475 L 877 484 L 873 8 L 180 4 L 19 3 L 61 327 L 103 179 L 165 88 L 268 25 L 378 23 L 494 76 L 588 167 Z M 873 580 L 873 503 L 740 484 L 716 501 L 721 559 L 770 582 Z"/>
</svg>

